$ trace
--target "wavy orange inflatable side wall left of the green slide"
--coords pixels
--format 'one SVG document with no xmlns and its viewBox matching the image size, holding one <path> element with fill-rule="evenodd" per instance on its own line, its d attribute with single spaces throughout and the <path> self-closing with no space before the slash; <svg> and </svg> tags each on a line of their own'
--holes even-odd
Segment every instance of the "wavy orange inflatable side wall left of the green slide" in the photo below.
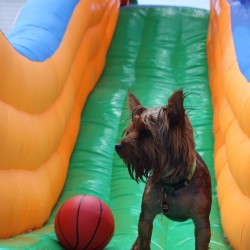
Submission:
<svg viewBox="0 0 250 250">
<path fill-rule="evenodd" d="M 1 239 L 41 227 L 57 202 L 118 12 L 118 0 L 80 1 L 44 62 L 22 56 L 0 34 Z"/>
</svg>

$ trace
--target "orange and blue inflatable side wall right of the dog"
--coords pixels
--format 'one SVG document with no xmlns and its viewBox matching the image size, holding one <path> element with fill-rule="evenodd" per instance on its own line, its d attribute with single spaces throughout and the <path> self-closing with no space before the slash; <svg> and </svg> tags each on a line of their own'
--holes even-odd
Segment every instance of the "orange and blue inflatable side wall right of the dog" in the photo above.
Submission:
<svg viewBox="0 0 250 250">
<path fill-rule="evenodd" d="M 211 1 L 207 54 L 215 173 L 222 226 L 238 250 L 250 249 L 249 23 L 247 1 Z"/>
</svg>

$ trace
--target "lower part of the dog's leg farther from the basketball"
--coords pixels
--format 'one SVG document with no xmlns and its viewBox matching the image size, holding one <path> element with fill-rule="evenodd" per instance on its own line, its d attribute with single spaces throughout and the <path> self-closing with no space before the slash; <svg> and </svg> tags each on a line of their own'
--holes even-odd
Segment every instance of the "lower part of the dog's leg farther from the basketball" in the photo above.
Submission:
<svg viewBox="0 0 250 250">
<path fill-rule="evenodd" d="M 199 218 L 194 220 L 195 224 L 195 250 L 209 249 L 211 229 L 209 218 Z"/>
</svg>

